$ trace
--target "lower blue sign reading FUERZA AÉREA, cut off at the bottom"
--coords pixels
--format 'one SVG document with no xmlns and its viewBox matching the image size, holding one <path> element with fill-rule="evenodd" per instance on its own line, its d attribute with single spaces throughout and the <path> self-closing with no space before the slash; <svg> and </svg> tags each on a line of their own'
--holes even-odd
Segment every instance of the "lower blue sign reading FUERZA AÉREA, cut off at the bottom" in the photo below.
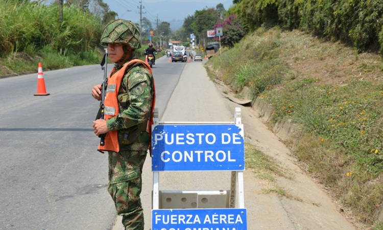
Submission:
<svg viewBox="0 0 383 230">
<path fill-rule="evenodd" d="M 152 210 L 153 230 L 247 230 L 246 209 Z"/>
</svg>

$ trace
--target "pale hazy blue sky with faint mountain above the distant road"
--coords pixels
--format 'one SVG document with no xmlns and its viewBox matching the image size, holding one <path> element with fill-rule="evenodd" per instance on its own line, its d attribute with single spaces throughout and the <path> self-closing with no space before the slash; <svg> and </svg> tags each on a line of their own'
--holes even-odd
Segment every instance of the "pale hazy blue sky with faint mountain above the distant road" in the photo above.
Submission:
<svg viewBox="0 0 383 230">
<path fill-rule="evenodd" d="M 139 9 L 138 3 L 137 6 L 133 6 L 132 3 L 129 3 L 129 5 L 123 5 L 123 1 L 115 1 L 115 0 L 104 0 L 105 3 L 107 3 L 110 7 L 110 10 L 116 12 L 118 14 L 118 17 L 131 20 L 135 23 L 139 24 Z M 216 3 L 211 3 L 216 2 Z M 120 4 L 118 4 L 120 3 Z M 142 17 L 147 17 L 149 20 L 151 20 L 153 27 L 156 27 L 157 22 L 155 21 L 158 19 L 161 23 L 162 21 L 167 21 L 170 23 L 170 28 L 172 30 L 178 30 L 183 25 L 183 20 L 188 15 L 194 15 L 196 10 L 202 10 L 204 8 L 216 8 L 217 4 L 222 3 L 225 7 L 225 9 L 229 9 L 229 7 L 232 5 L 232 0 L 225 0 L 225 1 L 163 1 L 163 2 L 157 2 L 157 3 L 146 3 L 145 0 L 142 1 L 142 7 L 145 7 L 142 9 L 142 12 L 146 12 L 145 14 L 142 14 Z M 131 10 L 131 11 L 127 11 Z"/>
</svg>

